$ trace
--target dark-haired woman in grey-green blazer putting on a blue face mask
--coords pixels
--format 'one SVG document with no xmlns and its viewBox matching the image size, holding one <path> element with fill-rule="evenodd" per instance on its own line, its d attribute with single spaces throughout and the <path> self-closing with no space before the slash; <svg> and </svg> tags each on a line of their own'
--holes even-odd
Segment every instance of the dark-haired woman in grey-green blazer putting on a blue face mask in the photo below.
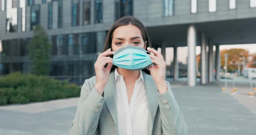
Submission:
<svg viewBox="0 0 256 135">
<path fill-rule="evenodd" d="M 148 69 L 133 69 L 134 62 L 129 63 L 132 70 L 115 66 L 120 64 L 118 58 L 126 58 L 125 65 L 127 59 L 147 59 L 142 54 L 124 55 L 124 50 L 143 53 L 144 49 L 151 52 L 147 61 L 154 63 Z M 160 52 L 149 47 L 138 19 L 125 16 L 112 25 L 94 67 L 96 76 L 82 86 L 71 135 L 187 135 L 187 124 L 165 80 L 166 63 Z"/>
</svg>

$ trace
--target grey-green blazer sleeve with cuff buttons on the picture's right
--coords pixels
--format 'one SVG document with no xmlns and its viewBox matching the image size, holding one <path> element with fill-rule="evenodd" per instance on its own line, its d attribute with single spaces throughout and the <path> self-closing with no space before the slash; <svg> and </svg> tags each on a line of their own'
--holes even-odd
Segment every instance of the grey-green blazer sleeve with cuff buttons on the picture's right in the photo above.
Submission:
<svg viewBox="0 0 256 135">
<path fill-rule="evenodd" d="M 167 92 L 158 92 L 158 104 L 160 109 L 163 135 L 187 135 L 187 124 L 183 113 L 174 98 L 170 83 L 167 83 Z"/>
</svg>

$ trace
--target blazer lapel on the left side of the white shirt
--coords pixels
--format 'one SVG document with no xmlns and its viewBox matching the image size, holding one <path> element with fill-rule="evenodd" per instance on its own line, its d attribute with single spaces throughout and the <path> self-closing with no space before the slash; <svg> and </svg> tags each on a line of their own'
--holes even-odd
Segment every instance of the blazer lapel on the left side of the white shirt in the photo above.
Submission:
<svg viewBox="0 0 256 135">
<path fill-rule="evenodd" d="M 108 77 L 107 84 L 104 88 L 104 97 L 105 97 L 105 103 L 108 107 L 108 110 L 114 119 L 115 127 L 117 131 L 117 105 L 116 105 L 116 87 L 115 87 L 115 72 L 111 72 Z"/>
</svg>

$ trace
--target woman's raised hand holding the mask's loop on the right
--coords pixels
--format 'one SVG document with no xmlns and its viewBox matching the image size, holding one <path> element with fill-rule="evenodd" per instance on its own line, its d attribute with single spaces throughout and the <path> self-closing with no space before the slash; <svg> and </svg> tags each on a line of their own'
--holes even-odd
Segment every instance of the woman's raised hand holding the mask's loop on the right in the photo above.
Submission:
<svg viewBox="0 0 256 135">
<path fill-rule="evenodd" d="M 152 52 L 154 55 L 150 55 L 150 58 L 154 65 L 154 67 L 150 70 L 150 74 L 154 79 L 154 82 L 157 84 L 158 92 L 159 93 L 166 93 L 167 91 L 167 84 L 165 82 L 165 69 L 166 63 L 164 61 L 163 56 L 161 53 L 154 48 L 147 48 L 148 51 Z M 149 67 L 151 68 L 151 67 Z"/>
</svg>

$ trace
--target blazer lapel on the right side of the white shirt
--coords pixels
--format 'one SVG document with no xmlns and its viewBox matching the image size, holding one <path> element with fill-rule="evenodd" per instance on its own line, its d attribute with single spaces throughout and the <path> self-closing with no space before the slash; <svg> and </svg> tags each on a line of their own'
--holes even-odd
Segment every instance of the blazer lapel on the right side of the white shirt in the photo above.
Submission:
<svg viewBox="0 0 256 135">
<path fill-rule="evenodd" d="M 148 135 L 152 135 L 154 117 L 158 109 L 157 86 L 152 77 L 142 72 L 148 101 Z"/>
</svg>

